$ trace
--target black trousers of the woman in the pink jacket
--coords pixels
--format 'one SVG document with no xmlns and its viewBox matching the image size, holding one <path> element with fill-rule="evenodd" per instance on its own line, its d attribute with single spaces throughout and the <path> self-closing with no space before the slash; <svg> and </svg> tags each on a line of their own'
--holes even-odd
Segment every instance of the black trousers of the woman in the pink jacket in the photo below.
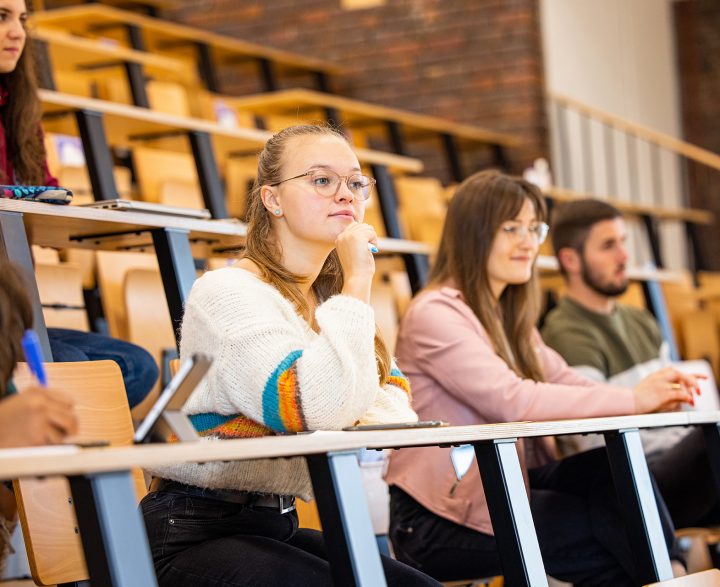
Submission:
<svg viewBox="0 0 720 587">
<path fill-rule="evenodd" d="M 636 586 L 635 567 L 605 449 L 530 469 L 530 508 L 549 575 L 576 587 Z M 671 558 L 674 528 L 655 497 Z M 398 560 L 441 581 L 502 575 L 495 537 L 437 516 L 390 488 L 390 540 Z"/>
</svg>

